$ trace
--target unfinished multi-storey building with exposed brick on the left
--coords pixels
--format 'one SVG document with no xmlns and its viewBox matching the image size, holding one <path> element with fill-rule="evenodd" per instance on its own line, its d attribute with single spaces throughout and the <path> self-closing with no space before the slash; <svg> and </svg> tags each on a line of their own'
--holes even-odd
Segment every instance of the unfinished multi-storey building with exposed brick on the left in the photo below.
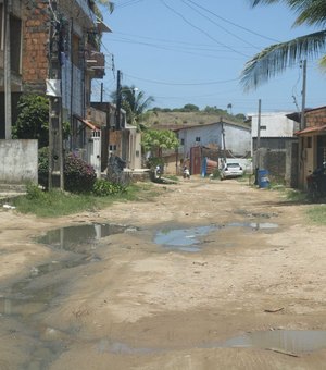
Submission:
<svg viewBox="0 0 326 370">
<path fill-rule="evenodd" d="M 92 0 L 0 0 L 0 139 L 11 139 L 21 95 L 48 95 L 60 97 L 55 113 L 71 125 L 65 149 L 89 150 L 91 81 L 104 76 L 100 36 L 110 32 L 96 12 Z"/>
</svg>

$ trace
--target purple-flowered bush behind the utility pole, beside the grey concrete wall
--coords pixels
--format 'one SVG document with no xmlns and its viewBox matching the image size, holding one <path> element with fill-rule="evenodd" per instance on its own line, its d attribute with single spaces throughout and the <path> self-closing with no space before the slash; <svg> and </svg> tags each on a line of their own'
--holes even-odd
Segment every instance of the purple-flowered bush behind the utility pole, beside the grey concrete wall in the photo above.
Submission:
<svg viewBox="0 0 326 370">
<path fill-rule="evenodd" d="M 49 148 L 38 151 L 38 182 L 48 188 Z M 93 168 L 74 153 L 65 156 L 64 189 L 71 193 L 90 193 L 96 182 Z"/>
</svg>

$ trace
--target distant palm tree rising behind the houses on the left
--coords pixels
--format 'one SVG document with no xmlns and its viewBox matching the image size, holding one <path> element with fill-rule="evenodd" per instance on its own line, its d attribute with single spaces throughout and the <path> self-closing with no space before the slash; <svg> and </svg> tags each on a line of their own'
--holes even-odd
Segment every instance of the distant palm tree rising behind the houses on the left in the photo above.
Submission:
<svg viewBox="0 0 326 370">
<path fill-rule="evenodd" d="M 111 94 L 111 98 L 116 103 L 116 91 Z M 137 125 L 141 128 L 141 121 L 145 118 L 145 113 L 154 101 L 153 97 L 146 97 L 143 91 L 139 91 L 134 85 L 121 87 L 121 106 L 126 111 L 127 123 Z"/>
</svg>

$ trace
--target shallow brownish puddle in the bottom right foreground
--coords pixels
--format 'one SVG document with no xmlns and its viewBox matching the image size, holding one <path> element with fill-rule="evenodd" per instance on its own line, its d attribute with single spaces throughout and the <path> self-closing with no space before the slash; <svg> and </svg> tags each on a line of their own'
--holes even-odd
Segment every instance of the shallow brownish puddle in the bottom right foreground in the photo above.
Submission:
<svg viewBox="0 0 326 370">
<path fill-rule="evenodd" d="M 274 330 L 253 332 L 228 341 L 209 344 L 205 348 L 255 347 L 298 354 L 326 348 L 326 331 Z"/>
</svg>

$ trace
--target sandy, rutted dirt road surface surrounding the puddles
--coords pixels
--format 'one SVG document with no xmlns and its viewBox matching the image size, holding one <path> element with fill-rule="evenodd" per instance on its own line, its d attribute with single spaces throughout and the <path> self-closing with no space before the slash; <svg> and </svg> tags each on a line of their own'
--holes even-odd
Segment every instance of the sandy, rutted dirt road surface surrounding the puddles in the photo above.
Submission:
<svg viewBox="0 0 326 370">
<path fill-rule="evenodd" d="M 155 186 L 154 201 L 55 220 L 0 211 L 0 369 L 325 369 L 326 349 L 221 346 L 243 333 L 326 330 L 326 227 L 309 224 L 310 206 L 231 180 Z M 131 227 L 102 238 L 96 262 L 29 286 L 35 267 L 70 257 L 32 237 L 90 222 Z M 153 242 L 160 230 L 208 225 L 197 252 Z M 8 299 L 24 279 L 26 295 L 37 287 L 49 301 Z"/>
</svg>

